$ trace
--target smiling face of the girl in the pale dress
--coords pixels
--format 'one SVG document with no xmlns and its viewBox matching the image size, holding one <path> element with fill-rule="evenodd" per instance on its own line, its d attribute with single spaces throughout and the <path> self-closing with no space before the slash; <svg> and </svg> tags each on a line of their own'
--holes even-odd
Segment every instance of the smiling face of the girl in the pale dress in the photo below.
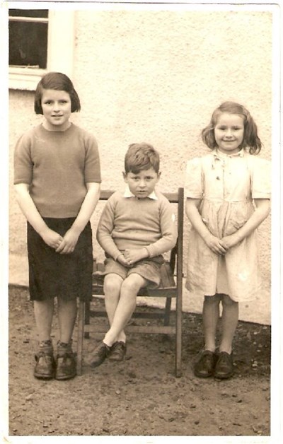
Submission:
<svg viewBox="0 0 283 444">
<path fill-rule="evenodd" d="M 243 141 L 245 126 L 243 117 L 238 114 L 223 112 L 214 127 L 214 137 L 221 153 L 233 154 L 239 151 Z"/>
</svg>

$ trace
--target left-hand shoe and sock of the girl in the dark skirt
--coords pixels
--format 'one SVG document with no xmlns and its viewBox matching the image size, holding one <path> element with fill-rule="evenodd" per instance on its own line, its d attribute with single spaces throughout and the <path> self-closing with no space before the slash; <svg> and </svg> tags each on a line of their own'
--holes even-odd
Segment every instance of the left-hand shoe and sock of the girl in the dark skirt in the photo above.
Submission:
<svg viewBox="0 0 283 444">
<path fill-rule="evenodd" d="M 51 341 L 40 342 L 39 350 L 35 354 L 35 368 L 33 375 L 38 379 L 52 379 L 55 375 L 55 361 Z"/>
</svg>

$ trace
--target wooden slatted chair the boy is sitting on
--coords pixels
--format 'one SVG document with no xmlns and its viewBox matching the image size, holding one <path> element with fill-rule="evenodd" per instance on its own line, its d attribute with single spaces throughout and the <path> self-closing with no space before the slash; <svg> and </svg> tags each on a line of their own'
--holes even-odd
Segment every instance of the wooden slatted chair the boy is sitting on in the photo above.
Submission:
<svg viewBox="0 0 283 444">
<path fill-rule="evenodd" d="M 109 199 L 112 192 L 102 191 L 100 200 Z M 128 325 L 126 332 L 131 333 L 156 333 L 156 334 L 174 334 L 175 335 L 175 375 L 181 375 L 181 353 L 182 353 L 182 293 L 183 293 L 183 214 L 184 214 L 184 190 L 178 189 L 178 193 L 163 193 L 172 204 L 178 205 L 178 240 L 170 253 L 170 259 L 161 267 L 161 284 L 158 288 L 141 288 L 138 296 L 161 297 L 166 298 L 164 310 L 156 312 L 140 312 L 137 306 L 132 317 L 143 319 L 163 319 L 163 325 Z M 104 264 L 93 262 L 93 273 L 97 270 L 103 271 Z M 96 295 L 103 295 L 103 279 L 93 274 L 93 300 Z M 171 317 L 171 302 L 175 298 L 175 316 L 173 322 Z M 82 373 L 83 339 L 89 338 L 91 330 L 91 317 L 107 317 L 105 310 L 103 312 L 94 310 L 91 302 L 79 301 L 78 315 L 78 344 L 77 344 L 77 374 Z M 173 316 L 172 316 L 173 317 Z M 95 326 L 94 326 L 95 327 Z M 107 328 L 104 332 L 107 331 Z"/>
</svg>

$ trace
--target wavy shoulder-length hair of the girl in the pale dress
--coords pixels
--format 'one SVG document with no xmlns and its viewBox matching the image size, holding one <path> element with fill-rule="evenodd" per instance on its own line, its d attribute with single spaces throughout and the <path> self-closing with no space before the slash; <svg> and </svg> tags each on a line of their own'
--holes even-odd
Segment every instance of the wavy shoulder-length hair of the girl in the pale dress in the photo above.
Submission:
<svg viewBox="0 0 283 444">
<path fill-rule="evenodd" d="M 202 129 L 202 141 L 204 142 L 204 144 L 206 144 L 211 149 L 217 147 L 214 136 L 214 128 L 217 124 L 219 115 L 224 112 L 227 112 L 229 114 L 237 114 L 243 117 L 243 141 L 238 148 L 241 149 L 249 147 L 250 154 L 258 154 L 262 146 L 260 138 L 258 137 L 258 128 L 255 124 L 255 121 L 253 120 L 253 117 L 250 115 L 250 112 L 248 112 L 248 110 L 243 105 L 240 105 L 236 102 L 224 102 L 219 107 L 217 107 L 216 110 L 214 110 L 209 124 L 207 125 L 207 127 Z"/>
</svg>

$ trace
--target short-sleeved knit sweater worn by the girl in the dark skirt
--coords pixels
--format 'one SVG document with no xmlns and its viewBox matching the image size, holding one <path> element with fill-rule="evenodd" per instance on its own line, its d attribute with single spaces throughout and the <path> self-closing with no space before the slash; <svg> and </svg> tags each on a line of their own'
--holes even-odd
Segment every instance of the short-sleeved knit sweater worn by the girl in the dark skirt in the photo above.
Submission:
<svg viewBox="0 0 283 444">
<path fill-rule="evenodd" d="M 75 124 L 64 132 L 38 125 L 16 144 L 13 182 L 30 185 L 42 217 L 76 217 L 86 183 L 101 182 L 96 139 Z"/>
</svg>

